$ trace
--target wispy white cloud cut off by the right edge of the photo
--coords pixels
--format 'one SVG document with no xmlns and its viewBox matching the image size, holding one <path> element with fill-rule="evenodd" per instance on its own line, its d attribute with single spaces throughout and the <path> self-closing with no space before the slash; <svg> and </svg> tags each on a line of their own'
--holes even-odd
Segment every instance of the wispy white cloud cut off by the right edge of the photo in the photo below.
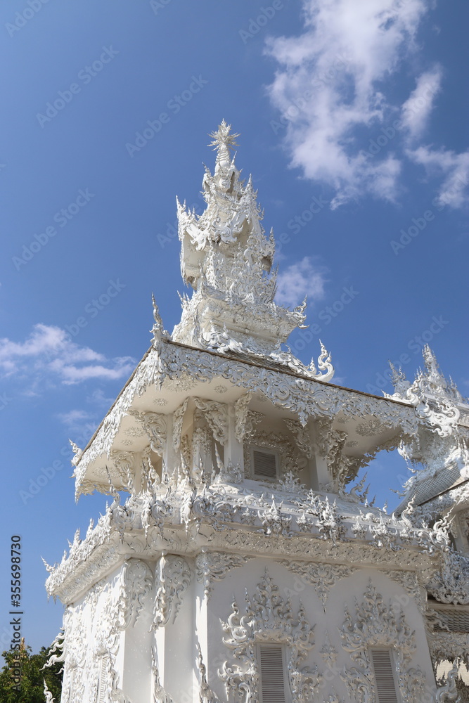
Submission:
<svg viewBox="0 0 469 703">
<path fill-rule="evenodd" d="M 416 163 L 422 165 L 428 174 L 444 174 L 437 200 L 440 205 L 463 207 L 468 203 L 469 150 L 456 154 L 449 149 L 432 149 L 420 146 L 408 152 Z"/>
</svg>

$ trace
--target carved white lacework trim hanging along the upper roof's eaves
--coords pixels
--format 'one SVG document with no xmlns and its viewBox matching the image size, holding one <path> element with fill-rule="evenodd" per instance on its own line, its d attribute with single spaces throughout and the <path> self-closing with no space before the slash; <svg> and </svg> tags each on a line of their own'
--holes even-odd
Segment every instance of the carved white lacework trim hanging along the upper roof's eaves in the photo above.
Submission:
<svg viewBox="0 0 469 703">
<path fill-rule="evenodd" d="M 136 368 L 131 380 L 106 415 L 92 443 L 77 462 L 75 477 L 77 496 L 92 492 L 97 486 L 105 492 L 106 481 L 86 478 L 87 468 L 98 458 L 109 455 L 122 417 L 129 412 L 134 399 L 151 386 L 161 387 L 165 380 L 178 378 L 181 368 L 191 368 L 195 382 L 210 382 L 217 378 L 237 385 L 253 394 L 262 394 L 275 406 L 297 414 L 304 425 L 309 417 L 334 418 L 340 412 L 354 417 L 375 415 L 392 427 L 400 427 L 406 436 L 415 434 L 418 421 L 413 407 L 396 404 L 389 399 L 356 394 L 340 387 L 327 386 L 307 378 L 302 373 L 288 375 L 281 370 L 266 370 L 223 354 L 188 349 L 178 344 L 162 342 L 159 349 L 150 349 Z"/>
</svg>

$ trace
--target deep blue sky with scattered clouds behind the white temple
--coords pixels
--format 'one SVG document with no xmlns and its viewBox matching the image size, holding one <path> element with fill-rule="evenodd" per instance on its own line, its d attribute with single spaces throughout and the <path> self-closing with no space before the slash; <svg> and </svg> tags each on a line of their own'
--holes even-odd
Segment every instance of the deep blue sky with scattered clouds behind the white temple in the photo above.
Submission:
<svg viewBox="0 0 469 703">
<path fill-rule="evenodd" d="M 468 6 L 18 0 L 0 13 L 0 554 L 8 566 L 23 536 L 36 650 L 63 612 L 40 557 L 60 560 L 105 505 L 75 505 L 68 438 L 86 444 L 146 352 L 152 291 L 165 326 L 179 321 L 175 197 L 201 211 L 222 118 L 274 227 L 278 302 L 309 296 L 298 356 L 321 338 L 336 382 L 380 394 L 387 360 L 413 377 L 428 341 L 468 394 Z M 368 475 L 395 504 L 400 458 Z"/>
</svg>

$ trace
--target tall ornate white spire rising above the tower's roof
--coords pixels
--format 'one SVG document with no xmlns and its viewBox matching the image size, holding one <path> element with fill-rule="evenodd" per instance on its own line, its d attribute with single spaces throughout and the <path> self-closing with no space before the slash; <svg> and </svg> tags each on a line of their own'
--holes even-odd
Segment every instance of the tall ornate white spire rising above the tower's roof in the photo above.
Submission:
<svg viewBox="0 0 469 703">
<path fill-rule="evenodd" d="M 173 338 L 219 352 L 269 356 L 311 378 L 330 380 L 328 355 L 326 367 L 320 366 L 326 373 L 320 375 L 314 363 L 305 367 L 290 351 L 281 351 L 290 333 L 304 327 L 305 304 L 291 311 L 274 302 L 274 234 L 265 236 L 252 179 L 242 181 L 236 168 L 231 150 L 238 134 L 223 121 L 210 136 L 217 157 L 213 175 L 205 167 L 205 212 L 199 217 L 177 201 L 181 274 L 195 292 L 191 299 L 181 297 L 183 312 Z"/>
</svg>

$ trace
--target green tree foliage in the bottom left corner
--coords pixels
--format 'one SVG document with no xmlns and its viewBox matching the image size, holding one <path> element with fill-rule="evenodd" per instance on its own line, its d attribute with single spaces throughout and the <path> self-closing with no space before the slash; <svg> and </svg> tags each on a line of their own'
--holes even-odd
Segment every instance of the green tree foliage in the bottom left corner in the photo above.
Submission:
<svg viewBox="0 0 469 703">
<path fill-rule="evenodd" d="M 31 647 L 23 642 L 19 650 L 3 652 L 5 665 L 0 672 L 0 703 L 44 703 L 44 679 L 56 703 L 60 703 L 62 673 L 59 671 L 63 665 L 53 664 L 41 671 L 49 659 L 49 649 L 41 647 L 39 654 L 31 652 Z"/>
</svg>

